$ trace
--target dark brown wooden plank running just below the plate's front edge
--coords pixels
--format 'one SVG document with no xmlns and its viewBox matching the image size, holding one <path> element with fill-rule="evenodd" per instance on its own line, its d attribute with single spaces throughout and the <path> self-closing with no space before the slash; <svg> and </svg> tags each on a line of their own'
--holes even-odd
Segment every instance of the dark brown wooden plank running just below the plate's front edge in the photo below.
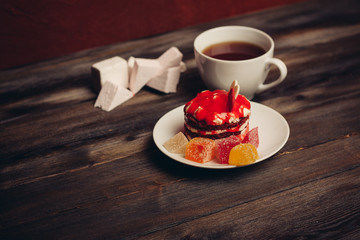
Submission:
<svg viewBox="0 0 360 240">
<path fill-rule="evenodd" d="M 43 233 L 46 229 L 46 238 L 54 238 L 54 231 L 62 237 L 84 237 L 89 233 L 98 236 L 109 231 L 114 236 L 132 238 L 186 222 L 191 224 L 193 220 L 246 207 L 253 201 L 298 187 L 304 188 L 297 193 L 300 199 L 291 202 L 301 206 L 307 191 L 314 191 L 307 184 L 337 178 L 351 170 L 359 172 L 358 156 L 348 154 L 359 151 L 359 146 L 360 136 L 353 136 L 229 171 L 187 167 L 157 151 L 147 156 L 137 154 L 136 160 L 128 157 L 1 191 L 1 196 L 12 199 L 2 204 L 5 233 L 16 235 L 30 229 L 31 233 Z M 333 181 L 329 186 L 336 188 Z M 341 188 L 343 182 L 338 184 Z M 358 192 L 359 184 L 359 180 L 351 179 L 348 190 Z M 344 193 L 344 197 L 350 196 Z M 288 204 L 289 199 L 284 199 L 282 203 Z M 357 205 L 354 217 L 358 218 L 359 198 L 351 199 Z M 342 205 L 344 200 L 333 201 Z M 308 211 L 302 214 L 309 217 L 307 221 L 313 220 Z M 354 224 L 355 227 L 359 222 Z M 76 231 L 83 225 L 98 227 Z M 105 229 L 98 232 L 98 228 Z"/>
</svg>

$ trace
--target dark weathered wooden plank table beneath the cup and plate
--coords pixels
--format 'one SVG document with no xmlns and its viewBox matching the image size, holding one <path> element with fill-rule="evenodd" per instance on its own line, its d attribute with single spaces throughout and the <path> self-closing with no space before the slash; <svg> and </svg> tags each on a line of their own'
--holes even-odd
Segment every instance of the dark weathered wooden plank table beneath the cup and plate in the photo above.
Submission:
<svg viewBox="0 0 360 240">
<path fill-rule="evenodd" d="M 359 16 L 357 0 L 308 1 L 2 71 L 0 239 L 360 239 Z M 289 73 L 253 100 L 291 133 L 266 161 L 211 170 L 166 157 L 152 131 L 205 89 L 192 43 L 222 25 L 273 36 Z M 93 63 L 171 46 L 188 67 L 177 93 L 94 108 Z"/>
</svg>

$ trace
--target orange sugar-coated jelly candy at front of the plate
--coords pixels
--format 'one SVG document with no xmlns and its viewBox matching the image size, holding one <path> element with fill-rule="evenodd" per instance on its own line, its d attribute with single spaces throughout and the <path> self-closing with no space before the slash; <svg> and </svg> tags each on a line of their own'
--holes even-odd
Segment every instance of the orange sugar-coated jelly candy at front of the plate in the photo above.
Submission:
<svg viewBox="0 0 360 240">
<path fill-rule="evenodd" d="M 215 141 L 196 137 L 186 145 L 185 158 L 194 162 L 205 163 L 215 157 Z"/>
</svg>

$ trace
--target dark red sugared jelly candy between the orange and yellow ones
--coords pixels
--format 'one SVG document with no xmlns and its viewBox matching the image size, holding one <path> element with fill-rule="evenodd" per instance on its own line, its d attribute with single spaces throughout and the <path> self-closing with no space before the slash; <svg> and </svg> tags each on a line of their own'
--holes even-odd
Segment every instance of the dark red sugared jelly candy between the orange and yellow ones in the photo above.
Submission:
<svg viewBox="0 0 360 240">
<path fill-rule="evenodd" d="M 240 139 L 234 135 L 215 140 L 216 151 L 215 156 L 222 164 L 229 163 L 229 154 L 233 147 L 241 143 Z"/>
</svg>

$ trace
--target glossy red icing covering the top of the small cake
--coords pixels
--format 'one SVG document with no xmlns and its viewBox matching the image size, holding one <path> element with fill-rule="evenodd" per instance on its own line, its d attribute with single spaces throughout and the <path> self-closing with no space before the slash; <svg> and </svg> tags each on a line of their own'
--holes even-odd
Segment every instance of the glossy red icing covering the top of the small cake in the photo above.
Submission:
<svg viewBox="0 0 360 240">
<path fill-rule="evenodd" d="M 203 91 L 185 105 L 186 114 L 207 125 L 233 123 L 250 114 L 250 102 L 238 95 L 232 111 L 228 109 L 228 92 L 225 90 Z"/>
</svg>

